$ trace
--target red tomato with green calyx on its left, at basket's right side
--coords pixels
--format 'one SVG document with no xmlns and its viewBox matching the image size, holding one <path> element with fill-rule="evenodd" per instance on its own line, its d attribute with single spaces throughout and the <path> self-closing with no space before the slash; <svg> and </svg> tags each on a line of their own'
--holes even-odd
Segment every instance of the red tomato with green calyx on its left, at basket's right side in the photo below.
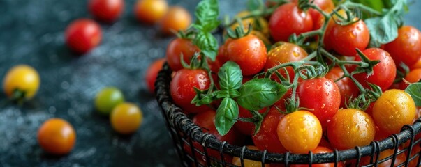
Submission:
<svg viewBox="0 0 421 167">
<path fill-rule="evenodd" d="M 355 79 L 360 81 L 360 84 L 365 88 L 370 88 L 369 84 L 367 84 L 369 82 L 380 86 L 383 91 L 387 90 L 393 84 L 394 77 L 396 77 L 396 65 L 392 57 L 387 51 L 378 48 L 366 49 L 362 53 L 370 60 L 379 60 L 380 63 L 374 65 L 373 74 L 355 74 Z M 360 56 L 355 57 L 355 61 L 361 61 Z M 355 66 L 353 66 L 353 69 L 355 69 Z"/>
</svg>

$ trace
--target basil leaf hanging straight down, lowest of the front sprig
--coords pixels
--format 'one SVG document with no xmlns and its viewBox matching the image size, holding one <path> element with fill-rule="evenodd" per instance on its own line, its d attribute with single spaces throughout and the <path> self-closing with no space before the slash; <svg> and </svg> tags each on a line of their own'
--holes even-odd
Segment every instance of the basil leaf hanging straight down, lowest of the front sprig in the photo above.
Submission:
<svg viewBox="0 0 421 167">
<path fill-rule="evenodd" d="M 235 100 L 226 97 L 222 100 L 215 116 L 215 127 L 219 134 L 226 135 L 237 122 L 238 104 Z"/>
</svg>

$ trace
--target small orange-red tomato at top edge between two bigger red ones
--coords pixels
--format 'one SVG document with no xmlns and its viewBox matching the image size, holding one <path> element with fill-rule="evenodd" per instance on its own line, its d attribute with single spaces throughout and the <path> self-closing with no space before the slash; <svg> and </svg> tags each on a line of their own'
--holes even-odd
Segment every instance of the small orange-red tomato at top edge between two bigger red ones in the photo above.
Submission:
<svg viewBox="0 0 421 167">
<path fill-rule="evenodd" d="M 293 2 L 298 3 L 298 0 L 293 0 Z M 314 0 L 311 2 L 327 13 L 331 13 L 334 9 L 334 3 L 332 0 Z M 309 8 L 309 14 L 313 19 L 313 30 L 320 29 L 325 22 L 325 17 L 313 8 Z"/>
</svg>

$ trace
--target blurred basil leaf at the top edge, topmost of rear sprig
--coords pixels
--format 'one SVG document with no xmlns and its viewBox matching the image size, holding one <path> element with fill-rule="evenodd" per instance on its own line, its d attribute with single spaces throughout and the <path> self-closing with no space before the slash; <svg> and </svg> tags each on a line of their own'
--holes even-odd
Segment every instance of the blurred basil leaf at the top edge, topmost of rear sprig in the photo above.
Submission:
<svg viewBox="0 0 421 167">
<path fill-rule="evenodd" d="M 195 10 L 195 24 L 200 25 L 202 31 L 210 32 L 219 25 L 218 0 L 203 0 L 198 3 Z"/>
</svg>

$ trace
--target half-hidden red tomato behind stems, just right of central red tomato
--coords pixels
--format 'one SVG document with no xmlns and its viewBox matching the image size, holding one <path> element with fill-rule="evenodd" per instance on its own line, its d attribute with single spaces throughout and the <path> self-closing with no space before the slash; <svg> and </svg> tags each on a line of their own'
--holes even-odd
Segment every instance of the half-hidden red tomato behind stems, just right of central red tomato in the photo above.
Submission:
<svg viewBox="0 0 421 167">
<path fill-rule="evenodd" d="M 325 78 L 336 81 L 342 76 L 344 76 L 344 71 L 341 70 L 341 67 L 333 67 L 332 70 L 327 72 Z M 360 93 L 357 86 L 355 86 L 354 82 L 348 77 L 336 81 L 335 84 L 337 84 L 339 92 L 341 93 L 341 107 L 343 108 L 345 108 L 346 103 L 348 104 L 350 97 L 357 97 Z"/>
</svg>

